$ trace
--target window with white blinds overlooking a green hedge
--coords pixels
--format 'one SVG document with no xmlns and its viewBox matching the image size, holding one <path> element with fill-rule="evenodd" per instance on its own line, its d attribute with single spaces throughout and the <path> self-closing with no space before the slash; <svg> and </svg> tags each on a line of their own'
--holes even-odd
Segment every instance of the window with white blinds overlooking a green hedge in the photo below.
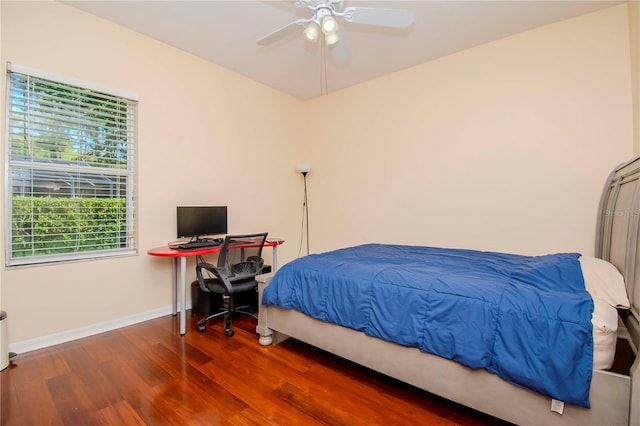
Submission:
<svg viewBox="0 0 640 426">
<path fill-rule="evenodd" d="M 8 266 L 136 251 L 137 101 L 9 64 Z"/>
</svg>

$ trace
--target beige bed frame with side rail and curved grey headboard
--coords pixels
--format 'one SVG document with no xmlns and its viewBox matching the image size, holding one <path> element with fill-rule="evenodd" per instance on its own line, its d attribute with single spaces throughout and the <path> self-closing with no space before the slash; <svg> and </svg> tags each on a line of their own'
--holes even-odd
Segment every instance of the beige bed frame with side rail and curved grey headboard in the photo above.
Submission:
<svg viewBox="0 0 640 426">
<path fill-rule="evenodd" d="M 618 166 L 605 185 L 598 213 L 596 256 L 624 275 L 631 309 L 620 311 L 636 354 L 631 375 L 594 370 L 591 408 L 565 405 L 510 384 L 485 370 L 472 370 L 436 355 L 316 320 L 294 310 L 262 305 L 272 275 L 259 277 L 260 343 L 293 337 L 451 401 L 520 425 L 640 425 L 640 157 Z M 517 408 L 515 408 L 517 407 Z"/>
</svg>

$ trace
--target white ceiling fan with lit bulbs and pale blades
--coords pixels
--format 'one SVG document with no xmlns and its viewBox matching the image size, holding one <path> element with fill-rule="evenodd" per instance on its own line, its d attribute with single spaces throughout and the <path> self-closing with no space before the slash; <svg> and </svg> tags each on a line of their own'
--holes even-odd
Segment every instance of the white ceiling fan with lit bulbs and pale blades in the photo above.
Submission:
<svg viewBox="0 0 640 426">
<path fill-rule="evenodd" d="M 410 10 L 374 7 L 343 9 L 342 0 L 297 0 L 293 4 L 307 9 L 311 17 L 296 19 L 259 38 L 256 43 L 266 46 L 299 27 L 304 27 L 303 33 L 307 40 L 315 43 L 320 36 L 324 37 L 325 44 L 331 48 L 334 61 L 344 63 L 348 60 L 348 53 L 344 43 L 340 42 L 338 20 L 388 28 L 408 28 L 414 21 L 414 14 Z"/>
</svg>

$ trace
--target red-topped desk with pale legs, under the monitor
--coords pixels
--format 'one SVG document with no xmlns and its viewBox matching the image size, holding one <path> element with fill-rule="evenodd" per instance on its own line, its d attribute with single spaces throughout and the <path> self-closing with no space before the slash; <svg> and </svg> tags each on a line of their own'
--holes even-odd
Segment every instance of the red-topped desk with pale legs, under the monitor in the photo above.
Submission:
<svg viewBox="0 0 640 426">
<path fill-rule="evenodd" d="M 283 240 L 269 240 L 264 243 L 265 247 L 273 248 L 273 271 L 278 269 L 278 246 L 284 243 Z M 245 246 L 238 245 L 233 248 L 242 248 Z M 156 247 L 147 250 L 147 254 L 151 256 L 171 257 L 173 258 L 173 282 L 172 282 L 172 304 L 171 313 L 176 315 L 178 312 L 178 259 L 180 259 L 180 334 L 186 333 L 186 305 L 187 305 L 187 257 L 199 256 L 205 254 L 218 253 L 222 246 L 205 247 L 194 250 L 174 250 L 169 246 Z"/>
</svg>

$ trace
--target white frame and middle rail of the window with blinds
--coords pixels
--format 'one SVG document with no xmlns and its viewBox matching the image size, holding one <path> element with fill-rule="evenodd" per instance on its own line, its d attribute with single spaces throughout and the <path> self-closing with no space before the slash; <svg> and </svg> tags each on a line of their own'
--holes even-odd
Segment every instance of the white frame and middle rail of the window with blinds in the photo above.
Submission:
<svg viewBox="0 0 640 426">
<path fill-rule="evenodd" d="M 26 161 L 21 161 L 20 158 L 15 158 L 12 156 L 12 143 L 10 138 L 10 129 L 13 120 L 11 118 L 12 112 L 12 78 L 11 75 L 13 73 L 22 74 L 24 76 L 28 76 L 30 78 L 37 78 L 43 80 L 49 80 L 51 82 L 55 82 L 56 84 L 61 84 L 65 86 L 74 86 L 78 89 L 89 90 L 91 94 L 99 94 L 99 95 L 107 95 L 111 97 L 119 98 L 120 100 L 126 103 L 126 168 L 117 168 L 117 167 L 92 167 L 90 164 L 81 165 L 78 161 L 49 161 L 42 162 L 37 161 L 39 157 L 37 156 L 27 156 Z M 3 226 L 5 229 L 4 232 L 4 253 L 5 253 L 5 266 L 13 267 L 13 266 L 28 266 L 28 265 L 41 265 L 48 263 L 60 263 L 60 262 L 71 262 L 71 261 L 80 261 L 80 260 L 91 260 L 91 259 L 100 259 L 100 258 L 108 258 L 108 257 L 120 257 L 120 256 L 131 256 L 136 255 L 138 253 L 138 224 L 137 224 L 137 146 L 138 146 L 138 95 L 132 92 L 114 89 L 111 87 L 107 87 L 104 85 L 78 80 L 71 77 L 66 77 L 62 75 L 57 75 L 54 73 L 50 73 L 47 71 L 38 70 L 31 67 L 26 67 L 22 65 L 13 64 L 11 62 L 7 62 L 7 72 L 6 72 L 6 92 L 5 92 L 5 123 L 4 123 L 4 131 L 5 131 L 5 147 L 4 147 L 4 178 L 5 185 L 3 187 L 4 193 L 4 221 Z M 62 126 L 61 126 L 62 127 Z M 36 160 L 36 161 L 34 161 Z M 90 250 L 82 250 L 82 251 L 73 251 L 69 250 L 68 252 L 63 253 L 55 253 L 55 254 L 40 254 L 40 255 L 27 255 L 27 256 L 18 256 L 15 257 L 13 254 L 13 229 L 12 229 L 12 220 L 13 220 L 13 206 L 14 206 L 14 183 L 13 183 L 13 172 L 16 170 L 21 170 L 21 166 L 26 164 L 30 164 L 31 173 L 34 174 L 36 172 L 42 173 L 47 171 L 52 171 L 53 173 L 62 173 L 68 170 L 72 170 L 78 176 L 82 176 L 86 178 L 87 176 L 95 177 L 96 179 L 101 176 L 100 173 L 104 172 L 107 176 L 117 176 L 118 180 L 116 183 L 118 185 L 125 186 L 125 229 L 126 235 L 123 237 L 124 246 L 104 249 L 100 247 L 96 247 Z M 33 166 L 34 163 L 37 163 L 37 166 Z M 49 164 L 52 163 L 52 164 Z M 90 172 L 88 172 L 90 170 Z M 83 172 L 84 171 L 84 172 Z M 83 174 L 84 173 L 84 174 Z M 32 176 L 33 177 L 33 176 Z M 104 177 L 104 176 L 103 176 Z M 91 179 L 91 178 L 90 178 Z M 108 178 L 107 178 L 108 179 Z M 33 186 L 31 187 L 30 195 L 33 195 Z M 85 198 L 85 197 L 74 197 L 67 196 L 62 198 Z M 117 199 L 119 197 L 104 197 L 108 199 Z"/>
</svg>

